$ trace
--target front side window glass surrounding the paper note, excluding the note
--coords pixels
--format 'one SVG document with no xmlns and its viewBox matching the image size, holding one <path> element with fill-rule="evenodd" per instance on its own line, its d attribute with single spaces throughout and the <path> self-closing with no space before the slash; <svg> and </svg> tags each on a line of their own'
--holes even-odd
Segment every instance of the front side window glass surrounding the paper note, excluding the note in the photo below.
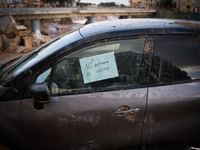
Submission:
<svg viewBox="0 0 200 150">
<path fill-rule="evenodd" d="M 129 39 L 95 44 L 58 61 L 53 83 L 59 94 L 135 86 L 138 79 L 145 39 Z M 91 83 L 83 82 L 79 59 L 114 52 L 119 76 Z M 57 93 L 57 94 L 58 94 Z"/>
</svg>

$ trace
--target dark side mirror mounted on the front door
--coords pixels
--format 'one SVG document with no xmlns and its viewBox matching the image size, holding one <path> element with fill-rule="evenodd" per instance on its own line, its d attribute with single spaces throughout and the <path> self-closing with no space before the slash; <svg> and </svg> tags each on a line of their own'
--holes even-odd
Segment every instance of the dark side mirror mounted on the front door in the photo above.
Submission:
<svg viewBox="0 0 200 150">
<path fill-rule="evenodd" d="M 50 102 L 50 93 L 45 82 L 35 83 L 29 88 L 35 109 L 43 109 L 43 104 Z"/>
</svg>

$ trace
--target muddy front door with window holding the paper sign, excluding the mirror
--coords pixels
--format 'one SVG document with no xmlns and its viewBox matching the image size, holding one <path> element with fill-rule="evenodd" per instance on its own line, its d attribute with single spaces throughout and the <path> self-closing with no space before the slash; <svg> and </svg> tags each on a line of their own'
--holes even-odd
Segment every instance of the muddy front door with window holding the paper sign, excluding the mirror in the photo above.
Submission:
<svg viewBox="0 0 200 150">
<path fill-rule="evenodd" d="M 33 98 L 22 100 L 28 149 L 139 146 L 152 49 L 153 38 L 106 39 L 33 73 L 28 84 L 46 82 L 51 100 L 42 107 Z"/>
</svg>

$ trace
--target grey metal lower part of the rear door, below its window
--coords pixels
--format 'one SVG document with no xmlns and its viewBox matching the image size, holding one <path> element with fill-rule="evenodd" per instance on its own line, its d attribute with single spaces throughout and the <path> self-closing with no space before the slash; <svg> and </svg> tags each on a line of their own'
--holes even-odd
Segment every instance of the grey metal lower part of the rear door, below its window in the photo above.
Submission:
<svg viewBox="0 0 200 150">
<path fill-rule="evenodd" d="M 200 82 L 150 87 L 143 142 L 200 144 Z"/>
</svg>

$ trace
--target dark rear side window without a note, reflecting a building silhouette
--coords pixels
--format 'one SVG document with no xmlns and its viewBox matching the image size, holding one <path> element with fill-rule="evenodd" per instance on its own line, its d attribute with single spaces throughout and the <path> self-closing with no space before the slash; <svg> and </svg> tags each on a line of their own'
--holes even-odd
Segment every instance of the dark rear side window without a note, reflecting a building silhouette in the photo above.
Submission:
<svg viewBox="0 0 200 150">
<path fill-rule="evenodd" d="M 152 73 L 153 83 L 200 79 L 200 39 L 192 37 L 162 39 L 162 44 L 155 50 Z"/>
</svg>

